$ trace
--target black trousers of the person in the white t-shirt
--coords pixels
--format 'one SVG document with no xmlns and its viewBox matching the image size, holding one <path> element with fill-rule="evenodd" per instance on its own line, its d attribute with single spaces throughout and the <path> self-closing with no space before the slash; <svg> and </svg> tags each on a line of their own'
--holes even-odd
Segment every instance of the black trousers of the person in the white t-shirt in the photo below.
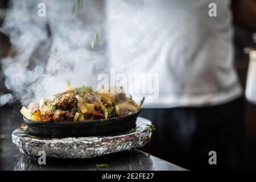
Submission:
<svg viewBox="0 0 256 182">
<path fill-rule="evenodd" d="M 155 125 L 143 151 L 188 169 L 241 169 L 243 98 L 210 107 L 143 109 Z M 217 164 L 210 165 L 209 151 Z"/>
</svg>

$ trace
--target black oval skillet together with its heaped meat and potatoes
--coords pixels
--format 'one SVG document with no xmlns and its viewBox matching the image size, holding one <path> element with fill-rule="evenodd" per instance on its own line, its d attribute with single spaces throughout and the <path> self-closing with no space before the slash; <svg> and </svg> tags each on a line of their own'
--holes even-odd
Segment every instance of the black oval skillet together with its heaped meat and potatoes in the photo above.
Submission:
<svg viewBox="0 0 256 182">
<path fill-rule="evenodd" d="M 95 92 L 88 86 L 69 85 L 51 100 L 41 99 L 20 113 L 30 134 L 39 137 L 92 137 L 128 131 L 135 126 L 141 113 L 125 93 Z"/>
</svg>

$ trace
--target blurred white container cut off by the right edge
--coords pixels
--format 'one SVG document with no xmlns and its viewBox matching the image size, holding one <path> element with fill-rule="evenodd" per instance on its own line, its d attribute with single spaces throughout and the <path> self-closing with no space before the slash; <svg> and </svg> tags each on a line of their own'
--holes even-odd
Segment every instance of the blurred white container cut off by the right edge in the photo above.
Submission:
<svg viewBox="0 0 256 182">
<path fill-rule="evenodd" d="M 245 97 L 248 101 L 256 104 L 256 47 L 246 48 L 245 52 L 249 53 L 250 57 Z"/>
</svg>

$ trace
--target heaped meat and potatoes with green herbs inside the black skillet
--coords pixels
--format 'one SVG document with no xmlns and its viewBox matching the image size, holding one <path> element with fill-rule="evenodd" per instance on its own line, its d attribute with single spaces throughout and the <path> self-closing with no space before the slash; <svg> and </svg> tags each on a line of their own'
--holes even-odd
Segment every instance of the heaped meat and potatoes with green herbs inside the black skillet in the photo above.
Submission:
<svg viewBox="0 0 256 182">
<path fill-rule="evenodd" d="M 20 113 L 35 122 L 93 121 L 121 117 L 135 113 L 143 104 L 137 105 L 125 93 L 94 92 L 88 86 L 73 88 L 53 96 L 52 100 L 41 99 Z"/>
</svg>

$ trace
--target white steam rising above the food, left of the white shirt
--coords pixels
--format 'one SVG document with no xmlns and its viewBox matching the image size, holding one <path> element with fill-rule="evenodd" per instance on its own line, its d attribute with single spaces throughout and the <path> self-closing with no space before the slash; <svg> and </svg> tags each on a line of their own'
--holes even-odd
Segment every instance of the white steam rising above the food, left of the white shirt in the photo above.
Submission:
<svg viewBox="0 0 256 182">
<path fill-rule="evenodd" d="M 46 17 L 38 4 L 46 4 Z M 1 60 L 5 85 L 13 95 L 1 96 L 0 106 L 12 98 L 23 105 L 51 98 L 72 85 L 96 86 L 106 67 L 104 12 L 100 1 L 13 0 L 1 31 L 10 37 L 13 52 Z M 72 13 L 73 7 L 76 7 Z M 98 33 L 94 49 L 91 42 Z"/>
</svg>

